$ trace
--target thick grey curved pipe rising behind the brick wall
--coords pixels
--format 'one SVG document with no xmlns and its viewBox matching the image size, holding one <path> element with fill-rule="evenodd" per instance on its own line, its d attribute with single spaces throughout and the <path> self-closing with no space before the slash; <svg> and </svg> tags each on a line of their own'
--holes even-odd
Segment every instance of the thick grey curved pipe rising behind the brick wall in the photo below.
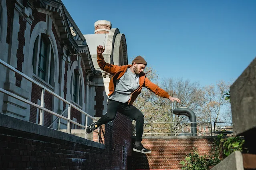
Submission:
<svg viewBox="0 0 256 170">
<path fill-rule="evenodd" d="M 191 123 L 192 136 L 197 136 L 197 132 L 196 132 L 196 114 L 191 109 L 188 109 L 187 107 L 179 107 L 179 108 L 173 109 L 173 114 L 175 114 L 175 115 L 185 115 L 185 116 L 189 117 L 190 122 L 193 122 L 193 123 Z"/>
</svg>

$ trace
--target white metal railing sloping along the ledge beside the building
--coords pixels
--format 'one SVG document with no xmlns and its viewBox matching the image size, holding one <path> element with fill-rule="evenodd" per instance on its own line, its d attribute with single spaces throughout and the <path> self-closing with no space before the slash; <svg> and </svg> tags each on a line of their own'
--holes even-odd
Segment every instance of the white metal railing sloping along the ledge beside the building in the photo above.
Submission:
<svg viewBox="0 0 256 170">
<path fill-rule="evenodd" d="M 4 94 L 6 94 L 6 95 L 9 95 L 9 96 L 11 96 L 11 97 L 13 97 L 13 98 L 15 98 L 15 99 L 18 99 L 18 100 L 20 100 L 20 101 L 23 101 L 24 103 L 27 103 L 27 104 L 29 104 L 29 105 L 32 105 L 32 106 L 37 107 L 38 109 L 40 109 L 40 122 L 39 122 L 39 125 L 43 125 L 43 122 L 42 122 L 42 121 L 43 121 L 44 111 L 46 111 L 46 112 L 48 112 L 48 113 L 50 113 L 50 114 L 52 114 L 52 115 L 55 115 L 55 116 L 59 117 L 59 119 L 61 118 L 61 119 L 67 120 L 67 133 L 70 133 L 70 123 L 73 123 L 73 124 L 75 124 L 75 125 L 78 125 L 79 127 L 86 128 L 86 127 L 87 127 L 88 117 L 91 118 L 91 119 L 93 119 L 93 120 L 95 120 L 95 121 L 97 121 L 97 119 L 95 119 L 94 117 L 92 117 L 91 115 L 89 115 L 88 113 L 86 113 L 85 111 L 79 109 L 77 106 L 73 105 L 71 102 L 69 102 L 69 101 L 67 101 L 66 99 L 60 97 L 60 96 L 57 95 L 56 93 L 50 91 L 48 88 L 46 88 L 46 87 L 44 87 L 43 85 L 41 85 L 40 83 L 34 81 L 34 80 L 31 79 L 30 77 L 28 77 L 27 75 L 25 75 L 25 74 L 23 74 L 22 72 L 18 71 L 17 69 L 15 69 L 14 67 L 12 67 L 12 66 L 9 65 L 8 63 L 2 61 L 1 59 L 0 59 L 0 64 L 2 64 L 4 67 L 7 67 L 8 69 L 14 71 L 15 73 L 18 73 L 18 74 L 21 75 L 23 78 L 27 79 L 27 80 L 30 81 L 31 83 L 34 83 L 34 84 L 36 84 L 36 85 L 38 85 L 39 87 L 42 88 L 41 104 L 40 104 L 40 105 L 37 105 L 37 104 L 35 104 L 35 103 L 32 103 L 31 101 L 28 101 L 28 100 L 26 100 L 26 99 L 24 99 L 24 98 L 22 98 L 22 97 L 19 97 L 19 96 L 13 94 L 13 93 L 10 93 L 9 91 L 6 91 L 5 89 L 2 89 L 2 88 L 0 87 L 0 92 L 2 92 L 2 93 L 4 93 Z M 55 113 L 55 112 L 53 112 L 53 111 L 50 111 L 50 110 L 44 108 L 44 93 L 45 93 L 45 91 L 47 91 L 47 92 L 50 93 L 51 95 L 54 95 L 55 97 L 57 97 L 58 99 L 62 100 L 63 102 L 67 103 L 67 105 L 68 105 L 68 107 L 67 107 L 67 108 L 68 108 L 68 117 L 64 117 L 64 116 L 62 116 L 62 115 L 60 115 L 60 114 L 58 114 L 58 113 Z M 74 109 L 76 109 L 77 111 L 79 111 L 79 112 L 81 112 L 81 113 L 83 113 L 83 114 L 85 115 L 85 126 L 70 119 L 70 117 L 71 117 L 71 107 L 73 107 Z M 98 133 L 98 140 L 97 140 L 97 142 L 99 142 L 99 129 L 100 129 L 100 128 L 98 128 L 97 131 L 94 130 L 95 132 Z M 86 133 L 85 133 L 85 138 L 87 139 L 87 134 L 86 134 Z"/>
</svg>

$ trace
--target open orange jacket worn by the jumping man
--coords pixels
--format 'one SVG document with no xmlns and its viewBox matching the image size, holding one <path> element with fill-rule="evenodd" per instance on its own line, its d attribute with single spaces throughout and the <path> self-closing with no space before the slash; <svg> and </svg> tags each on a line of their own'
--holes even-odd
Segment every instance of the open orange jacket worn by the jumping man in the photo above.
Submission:
<svg viewBox="0 0 256 170">
<path fill-rule="evenodd" d="M 130 68 L 131 65 L 118 66 L 118 65 L 106 63 L 102 54 L 97 55 L 97 61 L 98 61 L 99 67 L 103 71 L 106 71 L 107 73 L 110 73 L 111 75 L 113 75 L 112 79 L 109 82 L 108 95 L 110 96 L 115 90 L 115 85 L 117 83 L 117 80 L 120 79 L 125 74 L 125 71 L 127 70 L 127 68 Z M 170 96 L 166 91 L 164 91 L 163 89 L 161 89 L 160 87 L 152 83 L 146 77 L 146 74 L 144 72 L 141 72 L 139 75 L 139 85 L 140 85 L 139 88 L 133 91 L 133 93 L 131 94 L 131 98 L 128 103 L 129 105 L 132 105 L 135 99 L 141 93 L 142 87 L 146 87 L 147 89 L 152 91 L 155 95 L 158 95 L 160 97 L 169 98 Z"/>
</svg>

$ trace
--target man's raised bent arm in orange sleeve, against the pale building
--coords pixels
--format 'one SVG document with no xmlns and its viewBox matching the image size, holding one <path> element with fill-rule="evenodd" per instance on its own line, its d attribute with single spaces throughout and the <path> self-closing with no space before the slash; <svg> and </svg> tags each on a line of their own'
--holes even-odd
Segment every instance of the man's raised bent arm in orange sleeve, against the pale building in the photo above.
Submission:
<svg viewBox="0 0 256 170">
<path fill-rule="evenodd" d="M 104 57 L 102 55 L 102 53 L 104 51 L 105 51 L 105 47 L 103 48 L 102 45 L 99 45 L 97 47 L 97 62 L 98 62 L 98 65 L 103 71 L 106 71 L 107 73 L 110 73 L 110 74 L 114 75 L 120 69 L 120 66 L 106 63 L 105 60 L 104 60 Z"/>
</svg>

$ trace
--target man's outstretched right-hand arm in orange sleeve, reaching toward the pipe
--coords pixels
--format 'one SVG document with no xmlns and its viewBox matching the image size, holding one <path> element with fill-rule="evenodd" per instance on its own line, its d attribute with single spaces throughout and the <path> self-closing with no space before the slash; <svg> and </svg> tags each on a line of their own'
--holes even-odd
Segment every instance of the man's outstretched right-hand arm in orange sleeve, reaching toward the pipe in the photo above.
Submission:
<svg viewBox="0 0 256 170">
<path fill-rule="evenodd" d="M 147 77 L 145 77 L 145 85 L 144 85 L 144 87 L 146 87 L 147 89 L 152 91 L 155 95 L 167 98 L 167 99 L 169 99 L 172 102 L 173 101 L 177 101 L 178 103 L 180 103 L 180 100 L 178 98 L 175 98 L 175 97 L 172 97 L 171 95 L 169 95 L 166 91 L 161 89 L 159 86 L 157 86 L 156 84 L 152 83 Z"/>
</svg>

